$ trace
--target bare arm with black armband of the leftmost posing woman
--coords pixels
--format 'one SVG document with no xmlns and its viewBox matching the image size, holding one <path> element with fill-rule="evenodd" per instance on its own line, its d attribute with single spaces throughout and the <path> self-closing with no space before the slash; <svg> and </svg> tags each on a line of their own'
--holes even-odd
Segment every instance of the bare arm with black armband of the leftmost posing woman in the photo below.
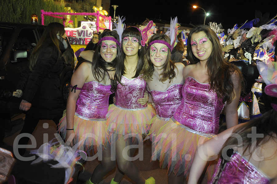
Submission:
<svg viewBox="0 0 277 184">
<path fill-rule="evenodd" d="M 87 63 L 82 63 L 78 69 L 73 73 L 70 84 L 71 86 L 76 86 L 77 88 L 82 88 L 90 71 L 91 67 L 87 66 Z M 69 96 L 66 104 L 66 129 L 73 129 L 74 115 L 76 102 L 79 97 L 81 90 L 70 88 Z M 66 141 L 69 139 L 69 136 L 74 134 L 74 130 L 66 130 Z M 70 141 L 70 145 L 73 146 L 72 140 Z"/>
</svg>

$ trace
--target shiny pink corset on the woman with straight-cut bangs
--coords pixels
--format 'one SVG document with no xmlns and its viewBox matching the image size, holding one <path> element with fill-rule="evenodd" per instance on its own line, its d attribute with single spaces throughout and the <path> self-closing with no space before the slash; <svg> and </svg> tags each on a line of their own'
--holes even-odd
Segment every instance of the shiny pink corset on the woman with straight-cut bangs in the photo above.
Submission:
<svg viewBox="0 0 277 184">
<path fill-rule="evenodd" d="M 146 81 L 142 76 L 133 79 L 128 79 L 125 76 L 121 77 L 121 83 L 118 84 L 115 92 L 115 105 L 126 109 L 146 108 L 147 103 L 142 105 L 137 103 L 139 98 L 143 98 L 146 89 Z"/>
</svg>

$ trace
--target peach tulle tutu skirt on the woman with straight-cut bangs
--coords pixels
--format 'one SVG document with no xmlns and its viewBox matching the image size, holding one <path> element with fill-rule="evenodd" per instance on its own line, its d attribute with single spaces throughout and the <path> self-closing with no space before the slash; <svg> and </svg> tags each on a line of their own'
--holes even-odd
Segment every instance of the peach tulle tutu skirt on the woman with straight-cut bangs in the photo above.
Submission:
<svg viewBox="0 0 277 184">
<path fill-rule="evenodd" d="M 143 135 L 150 130 L 151 125 L 147 121 L 151 120 L 155 114 L 155 108 L 151 104 L 138 110 L 120 108 L 111 104 L 106 115 L 107 130 L 110 135 L 114 133 L 116 138 L 122 135 L 131 137 Z"/>
</svg>

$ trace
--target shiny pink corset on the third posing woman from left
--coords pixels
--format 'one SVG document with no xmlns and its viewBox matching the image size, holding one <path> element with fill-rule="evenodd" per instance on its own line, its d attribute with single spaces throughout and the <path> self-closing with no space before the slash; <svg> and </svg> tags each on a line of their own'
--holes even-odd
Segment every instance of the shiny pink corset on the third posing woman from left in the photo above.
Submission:
<svg viewBox="0 0 277 184">
<path fill-rule="evenodd" d="M 183 84 L 172 84 L 166 91 L 151 90 L 156 114 L 163 118 L 171 118 L 182 101 Z"/>
</svg>

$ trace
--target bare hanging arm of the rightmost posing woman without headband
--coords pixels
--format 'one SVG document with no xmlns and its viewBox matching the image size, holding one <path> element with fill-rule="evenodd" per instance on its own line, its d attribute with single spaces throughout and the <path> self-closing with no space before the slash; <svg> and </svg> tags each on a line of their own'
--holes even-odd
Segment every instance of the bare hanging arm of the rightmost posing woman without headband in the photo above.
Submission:
<svg viewBox="0 0 277 184">
<path fill-rule="evenodd" d="M 237 72 L 232 74 L 232 81 L 234 85 L 234 93 L 235 96 L 230 104 L 227 103 L 226 105 L 226 125 L 227 128 L 235 126 L 238 124 L 238 104 L 239 104 L 239 97 L 240 97 L 240 82 L 239 82 L 239 74 Z"/>
</svg>

